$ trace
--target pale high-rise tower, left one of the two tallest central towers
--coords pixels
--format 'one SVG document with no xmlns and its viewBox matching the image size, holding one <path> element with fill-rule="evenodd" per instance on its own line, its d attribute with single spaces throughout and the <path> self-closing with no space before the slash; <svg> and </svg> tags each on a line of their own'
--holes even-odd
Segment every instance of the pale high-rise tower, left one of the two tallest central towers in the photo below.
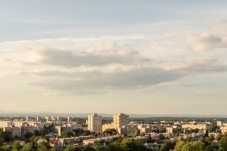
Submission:
<svg viewBox="0 0 227 151">
<path fill-rule="evenodd" d="M 102 117 L 98 114 L 88 115 L 88 130 L 96 133 L 102 132 Z"/>
</svg>

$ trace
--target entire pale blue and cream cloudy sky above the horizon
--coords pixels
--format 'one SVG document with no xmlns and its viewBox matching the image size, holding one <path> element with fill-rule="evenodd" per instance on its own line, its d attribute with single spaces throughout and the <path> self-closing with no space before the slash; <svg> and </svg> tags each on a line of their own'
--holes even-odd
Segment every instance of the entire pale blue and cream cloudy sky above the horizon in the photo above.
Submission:
<svg viewBox="0 0 227 151">
<path fill-rule="evenodd" d="M 225 0 L 0 4 L 0 112 L 227 115 Z"/>
</svg>

